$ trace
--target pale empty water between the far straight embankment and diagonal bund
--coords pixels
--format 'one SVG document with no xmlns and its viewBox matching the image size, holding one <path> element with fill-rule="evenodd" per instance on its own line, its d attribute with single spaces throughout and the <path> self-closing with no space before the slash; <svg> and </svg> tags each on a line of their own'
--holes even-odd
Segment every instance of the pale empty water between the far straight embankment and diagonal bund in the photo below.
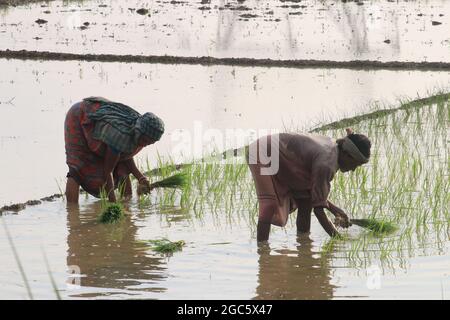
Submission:
<svg viewBox="0 0 450 320">
<path fill-rule="evenodd" d="M 1 206 L 64 186 L 64 116 L 86 96 L 109 97 L 161 116 L 166 134 L 137 157 L 154 164 L 157 152 L 183 161 L 207 152 L 208 145 L 240 146 L 237 130 L 311 128 L 370 103 L 395 105 L 399 97 L 425 96 L 450 83 L 448 72 L 17 60 L 0 60 L 0 69 L 0 172 L 8 181 L 0 185 Z M 222 138 L 213 141 L 212 128 Z M 180 148 L 186 146 L 180 134 L 188 135 L 187 148 Z"/>
</svg>

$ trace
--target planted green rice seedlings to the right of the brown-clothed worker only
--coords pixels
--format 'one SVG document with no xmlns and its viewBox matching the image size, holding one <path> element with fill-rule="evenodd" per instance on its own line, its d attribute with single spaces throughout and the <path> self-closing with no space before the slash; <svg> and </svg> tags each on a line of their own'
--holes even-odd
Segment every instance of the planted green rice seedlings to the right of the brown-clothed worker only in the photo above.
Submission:
<svg viewBox="0 0 450 320">
<path fill-rule="evenodd" d="M 393 254 L 400 260 L 419 248 L 439 250 L 443 239 L 448 241 L 439 227 L 439 221 L 448 224 L 448 98 L 441 94 L 410 101 L 395 112 L 351 120 L 355 131 L 369 136 L 375 152 L 367 166 L 345 178 L 335 177 L 331 197 L 349 212 L 371 212 L 361 218 L 367 219 L 364 226 L 376 232 L 362 234 L 347 249 L 337 248 L 346 252 L 349 262 L 391 261 Z M 335 123 L 319 132 L 339 136 L 341 125 Z M 372 221 L 374 217 L 379 223 Z M 396 229 L 399 237 L 392 238 Z M 373 257 L 366 256 L 367 252 L 374 252 Z"/>
</svg>

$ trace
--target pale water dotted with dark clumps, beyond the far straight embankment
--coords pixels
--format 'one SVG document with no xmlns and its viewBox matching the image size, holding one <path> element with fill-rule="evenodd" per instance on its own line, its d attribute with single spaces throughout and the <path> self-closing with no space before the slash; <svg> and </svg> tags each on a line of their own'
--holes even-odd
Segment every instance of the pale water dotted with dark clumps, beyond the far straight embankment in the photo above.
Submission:
<svg viewBox="0 0 450 320">
<path fill-rule="evenodd" d="M 52 1 L 2 9 L 0 48 L 340 61 L 449 61 L 450 3 L 445 0 L 207 2 Z M 142 15 L 138 9 L 148 12 L 141 12 L 145 13 Z"/>
</svg>

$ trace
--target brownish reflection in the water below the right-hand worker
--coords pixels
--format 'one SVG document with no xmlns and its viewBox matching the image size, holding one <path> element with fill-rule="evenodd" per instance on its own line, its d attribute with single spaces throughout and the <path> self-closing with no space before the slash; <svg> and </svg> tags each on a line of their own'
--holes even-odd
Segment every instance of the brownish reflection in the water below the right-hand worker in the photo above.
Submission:
<svg viewBox="0 0 450 320">
<path fill-rule="evenodd" d="M 276 250 L 276 254 L 270 254 L 268 245 L 258 248 L 259 284 L 254 299 L 333 298 L 329 260 L 314 256 L 308 235 L 299 236 L 297 241 L 297 251 Z"/>
</svg>

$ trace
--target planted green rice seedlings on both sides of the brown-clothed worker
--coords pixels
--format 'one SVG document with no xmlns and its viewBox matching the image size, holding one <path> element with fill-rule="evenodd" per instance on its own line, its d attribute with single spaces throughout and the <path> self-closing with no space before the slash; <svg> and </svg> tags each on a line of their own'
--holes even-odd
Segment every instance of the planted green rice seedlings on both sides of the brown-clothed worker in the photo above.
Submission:
<svg viewBox="0 0 450 320">
<path fill-rule="evenodd" d="M 333 239 L 334 244 L 324 244 L 324 252 L 343 255 L 354 266 L 377 259 L 389 267 L 393 260 L 406 265 L 405 257 L 413 256 L 419 247 L 448 241 L 449 97 L 439 93 L 403 100 L 399 107 L 385 110 L 378 105 L 369 115 L 312 130 L 338 138 L 342 128 L 350 125 L 356 132 L 365 133 L 373 145 L 370 162 L 353 173 L 336 174 L 330 194 L 330 200 L 349 213 L 370 212 L 354 220 L 355 225 L 370 232 L 354 228 L 357 234 L 352 231 L 351 241 Z M 254 230 L 257 198 L 251 174 L 241 158 L 200 159 L 186 166 L 160 159 L 161 170 L 155 170 L 155 174 L 166 178 L 177 172 L 189 183 L 182 190 L 159 189 L 152 198 L 155 210 L 181 207 L 192 213 L 190 219 L 195 221 L 209 215 L 217 228 L 223 228 L 223 222 L 226 226 L 246 223 Z"/>
</svg>

